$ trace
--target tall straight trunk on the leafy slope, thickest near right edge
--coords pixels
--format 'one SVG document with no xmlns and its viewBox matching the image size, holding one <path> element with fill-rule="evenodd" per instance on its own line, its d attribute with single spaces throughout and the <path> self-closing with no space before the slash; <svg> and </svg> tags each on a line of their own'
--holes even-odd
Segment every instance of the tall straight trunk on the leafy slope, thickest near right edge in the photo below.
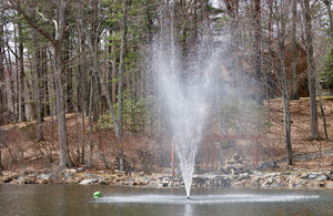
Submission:
<svg viewBox="0 0 333 216">
<path fill-rule="evenodd" d="M 311 138 L 319 138 L 317 130 L 317 109 L 316 109 L 316 90 L 315 90 L 315 65 L 313 59 L 312 43 L 312 19 L 310 11 L 310 0 L 303 0 L 304 3 L 304 20 L 305 20 L 305 44 L 307 53 L 307 79 L 311 107 Z"/>
</svg>

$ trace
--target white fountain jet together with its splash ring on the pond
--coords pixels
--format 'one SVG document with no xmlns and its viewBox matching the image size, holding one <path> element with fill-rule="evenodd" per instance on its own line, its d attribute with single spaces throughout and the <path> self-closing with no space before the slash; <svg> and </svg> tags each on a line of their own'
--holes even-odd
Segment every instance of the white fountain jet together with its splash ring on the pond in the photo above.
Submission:
<svg viewBox="0 0 333 216">
<path fill-rule="evenodd" d="M 167 215 L 170 215 L 169 210 L 175 210 L 174 215 L 182 213 L 183 215 L 212 214 L 212 209 L 215 210 L 216 215 L 242 215 L 251 214 L 249 212 L 251 206 L 255 206 L 253 215 L 266 213 L 268 206 L 270 206 L 269 209 L 278 210 L 280 214 L 282 208 L 293 209 L 294 203 L 316 204 L 314 200 L 320 198 L 316 193 L 304 195 L 302 192 L 246 192 L 245 189 L 236 191 L 236 193 L 234 191 L 228 193 L 225 191 L 195 189 L 192 191 L 194 195 L 189 200 L 198 144 L 201 142 L 204 122 L 208 117 L 206 102 L 214 97 L 212 95 L 214 95 L 213 91 L 216 90 L 216 72 L 221 70 L 222 65 L 219 61 L 221 60 L 219 52 L 215 52 L 214 49 L 208 49 L 210 48 L 209 43 L 198 42 L 196 52 L 186 59 L 189 62 L 184 66 L 183 62 L 180 61 L 179 48 L 174 42 L 172 19 L 165 25 L 167 28 L 162 28 L 161 34 L 155 37 L 149 61 L 151 63 L 150 69 L 154 72 L 154 84 L 161 113 L 167 116 L 173 136 L 188 199 L 178 191 L 159 191 L 159 188 L 133 191 L 131 188 L 119 193 L 109 193 L 109 196 L 108 192 L 104 192 L 105 196 L 93 199 L 92 203 L 120 204 L 110 206 L 119 208 L 119 210 L 130 208 L 135 214 L 137 208 L 140 213 L 152 208 L 159 215 L 163 215 L 163 209 L 168 209 L 164 212 Z M 117 187 L 117 189 L 119 188 Z M 242 205 L 239 205 L 240 203 Z M 104 207 L 104 205 L 99 206 Z M 300 209 L 301 207 L 296 212 Z"/>
</svg>

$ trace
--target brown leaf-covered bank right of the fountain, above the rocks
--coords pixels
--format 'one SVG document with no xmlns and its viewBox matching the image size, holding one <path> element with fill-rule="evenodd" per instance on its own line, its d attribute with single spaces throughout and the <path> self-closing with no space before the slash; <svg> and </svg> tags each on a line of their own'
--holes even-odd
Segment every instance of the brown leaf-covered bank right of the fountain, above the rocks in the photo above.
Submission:
<svg viewBox="0 0 333 216">
<path fill-rule="evenodd" d="M 323 117 L 317 109 L 320 140 L 310 138 L 310 102 L 309 99 L 291 101 L 292 148 L 294 165 L 286 165 L 286 150 L 283 127 L 283 106 L 281 100 L 271 102 L 271 132 L 265 135 L 266 147 L 271 148 L 272 157 L 281 162 L 281 167 L 292 167 L 301 171 L 333 171 L 333 100 L 323 100 L 329 141 L 325 141 Z"/>
</svg>

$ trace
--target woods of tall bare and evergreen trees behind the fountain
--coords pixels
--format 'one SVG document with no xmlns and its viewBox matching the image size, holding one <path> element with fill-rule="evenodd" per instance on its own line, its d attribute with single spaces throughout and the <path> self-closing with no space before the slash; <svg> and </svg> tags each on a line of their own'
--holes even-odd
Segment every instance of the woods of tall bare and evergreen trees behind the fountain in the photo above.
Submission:
<svg viewBox="0 0 333 216">
<path fill-rule="evenodd" d="M 43 141 L 43 119 L 57 116 L 60 167 L 73 165 L 68 113 L 89 116 L 90 132 L 110 116 L 119 140 L 124 126 L 143 132 L 159 119 L 151 44 L 172 20 L 184 66 L 210 35 L 225 53 L 232 88 L 251 83 L 244 96 L 261 105 L 283 99 L 291 164 L 290 100 L 310 97 L 309 134 L 319 138 L 316 96 L 332 93 L 331 7 L 331 0 L 1 0 L 0 125 L 36 120 Z"/>
</svg>

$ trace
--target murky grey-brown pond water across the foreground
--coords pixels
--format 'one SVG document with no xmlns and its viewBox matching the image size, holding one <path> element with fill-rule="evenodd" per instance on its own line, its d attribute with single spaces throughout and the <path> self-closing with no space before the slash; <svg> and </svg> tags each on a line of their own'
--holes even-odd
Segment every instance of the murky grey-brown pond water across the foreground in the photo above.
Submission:
<svg viewBox="0 0 333 216">
<path fill-rule="evenodd" d="M 101 198 L 92 194 L 102 192 Z M 333 191 L 0 185 L 0 215 L 333 215 Z"/>
</svg>

